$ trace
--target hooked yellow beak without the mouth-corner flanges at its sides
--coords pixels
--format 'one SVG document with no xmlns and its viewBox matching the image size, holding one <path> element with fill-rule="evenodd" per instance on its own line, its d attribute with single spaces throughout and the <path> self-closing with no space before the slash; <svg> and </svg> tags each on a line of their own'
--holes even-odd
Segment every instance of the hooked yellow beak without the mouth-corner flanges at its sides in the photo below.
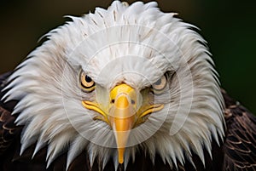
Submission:
<svg viewBox="0 0 256 171">
<path fill-rule="evenodd" d="M 119 163 L 124 162 L 125 145 L 136 120 L 136 96 L 135 90 L 124 83 L 110 92 L 112 106 L 108 119 L 118 147 Z"/>
</svg>

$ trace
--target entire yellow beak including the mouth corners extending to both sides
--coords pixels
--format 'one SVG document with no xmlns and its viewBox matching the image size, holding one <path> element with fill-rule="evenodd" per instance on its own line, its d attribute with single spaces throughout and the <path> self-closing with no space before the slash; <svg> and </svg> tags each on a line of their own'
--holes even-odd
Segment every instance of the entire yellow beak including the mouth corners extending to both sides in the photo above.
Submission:
<svg viewBox="0 0 256 171">
<path fill-rule="evenodd" d="M 125 146 L 131 129 L 144 117 L 153 111 L 160 111 L 163 105 L 145 105 L 138 107 L 137 92 L 129 85 L 122 83 L 110 91 L 108 109 L 103 110 L 97 103 L 83 100 L 84 107 L 97 111 L 102 117 L 96 117 L 113 128 L 118 148 L 119 163 L 124 162 Z M 137 108 L 139 108 L 137 110 Z"/>
</svg>

